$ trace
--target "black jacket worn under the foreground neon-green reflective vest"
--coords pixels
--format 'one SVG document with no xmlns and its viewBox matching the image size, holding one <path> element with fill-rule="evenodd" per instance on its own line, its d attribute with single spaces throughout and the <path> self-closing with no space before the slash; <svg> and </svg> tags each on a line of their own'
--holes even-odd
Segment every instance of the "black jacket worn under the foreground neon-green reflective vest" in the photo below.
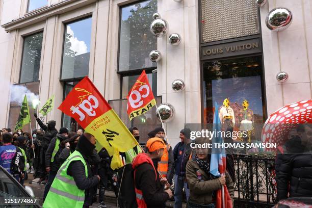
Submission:
<svg viewBox="0 0 312 208">
<path fill-rule="evenodd" d="M 83 154 L 82 154 L 83 155 Z M 76 186 L 81 189 L 85 190 L 85 206 L 90 206 L 92 204 L 92 199 L 94 196 L 94 188 L 96 188 L 96 185 L 98 184 L 99 180 L 97 176 L 93 176 L 93 173 L 91 171 L 91 166 L 89 163 L 89 160 L 85 155 L 83 155 L 83 158 L 86 161 L 87 167 L 88 167 L 88 177 L 86 177 L 85 174 L 85 166 L 81 161 L 73 161 L 69 164 L 67 169 L 67 174 L 72 176 L 74 178 L 74 181 L 76 183 Z"/>
</svg>

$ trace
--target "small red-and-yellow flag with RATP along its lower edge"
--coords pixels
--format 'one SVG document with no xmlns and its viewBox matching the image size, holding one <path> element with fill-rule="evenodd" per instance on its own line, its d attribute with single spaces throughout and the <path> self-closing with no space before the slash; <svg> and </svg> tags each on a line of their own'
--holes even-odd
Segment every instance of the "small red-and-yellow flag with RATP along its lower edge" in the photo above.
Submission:
<svg viewBox="0 0 312 208">
<path fill-rule="evenodd" d="M 154 105 L 156 105 L 145 70 L 143 70 L 138 80 L 129 91 L 127 99 L 127 114 L 130 120 L 136 116 L 146 113 Z"/>
</svg>

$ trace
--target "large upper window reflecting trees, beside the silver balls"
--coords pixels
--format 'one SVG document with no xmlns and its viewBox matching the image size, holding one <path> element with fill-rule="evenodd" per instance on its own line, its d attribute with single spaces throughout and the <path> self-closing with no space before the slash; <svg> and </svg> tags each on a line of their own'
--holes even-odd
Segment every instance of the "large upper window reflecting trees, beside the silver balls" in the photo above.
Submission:
<svg viewBox="0 0 312 208">
<path fill-rule="evenodd" d="M 143 1 L 121 8 L 118 71 L 157 67 L 148 54 L 157 49 L 157 38 L 149 31 L 157 0 Z"/>
</svg>

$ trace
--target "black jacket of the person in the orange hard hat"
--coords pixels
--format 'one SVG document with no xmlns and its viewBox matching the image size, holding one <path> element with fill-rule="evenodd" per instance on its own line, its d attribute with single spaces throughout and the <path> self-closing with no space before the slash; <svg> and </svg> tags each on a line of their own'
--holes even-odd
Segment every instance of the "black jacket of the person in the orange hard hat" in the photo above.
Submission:
<svg viewBox="0 0 312 208">
<path fill-rule="evenodd" d="M 157 162 L 153 161 L 154 167 Z M 159 174 L 155 181 L 155 171 L 148 163 L 143 163 L 136 168 L 135 174 L 136 187 L 143 192 L 144 201 L 149 208 L 164 207 L 169 200 L 169 195 L 164 192 L 164 186 L 160 183 Z"/>
</svg>

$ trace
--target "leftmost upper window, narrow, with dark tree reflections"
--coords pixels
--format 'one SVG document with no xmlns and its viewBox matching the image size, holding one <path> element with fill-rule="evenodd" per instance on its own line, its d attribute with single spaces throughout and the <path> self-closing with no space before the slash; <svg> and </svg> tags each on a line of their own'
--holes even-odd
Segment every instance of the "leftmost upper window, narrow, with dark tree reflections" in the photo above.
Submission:
<svg viewBox="0 0 312 208">
<path fill-rule="evenodd" d="M 42 37 L 42 32 L 24 37 L 19 83 L 39 80 Z"/>
</svg>

